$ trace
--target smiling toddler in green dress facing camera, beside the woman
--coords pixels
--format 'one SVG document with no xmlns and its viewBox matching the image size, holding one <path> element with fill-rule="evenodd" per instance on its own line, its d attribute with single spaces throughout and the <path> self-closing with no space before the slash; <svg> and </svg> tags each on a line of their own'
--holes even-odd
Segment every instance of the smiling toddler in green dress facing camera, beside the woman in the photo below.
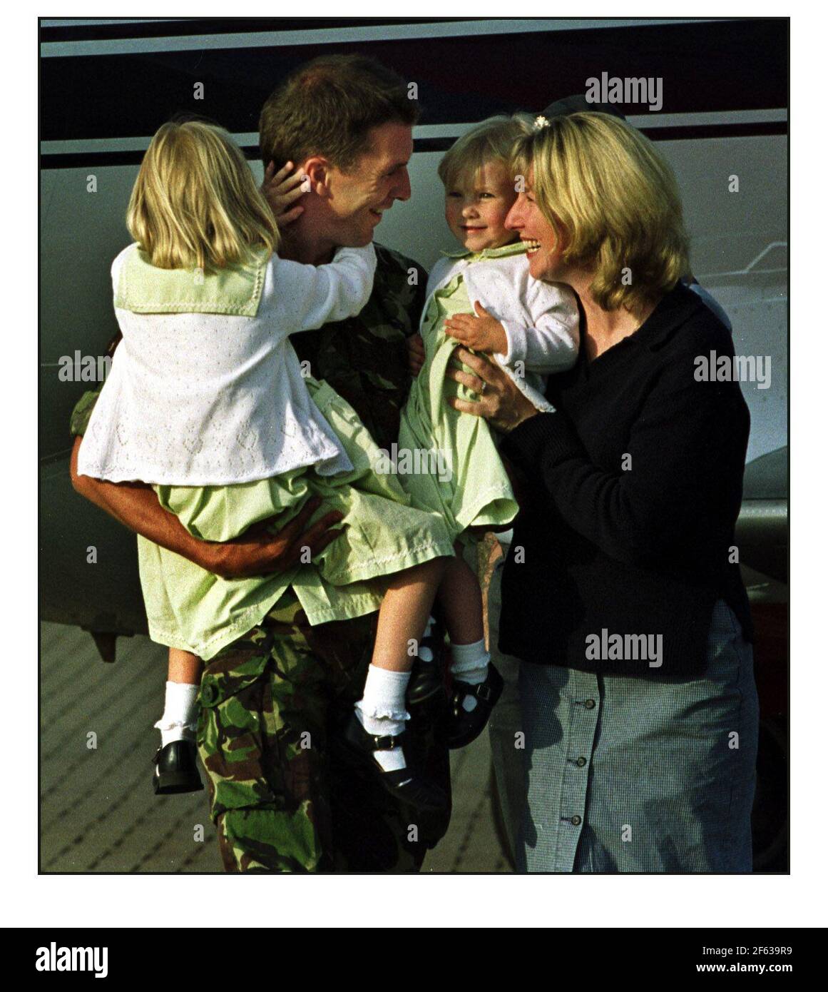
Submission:
<svg viewBox="0 0 828 992">
<path fill-rule="evenodd" d="M 512 169 L 513 147 L 540 125 L 523 115 L 490 118 L 460 138 L 440 162 L 446 223 L 462 248 L 445 253 L 428 277 L 419 328 L 424 364 L 400 428 L 400 455 L 433 450 L 439 453 L 435 460 L 452 466 L 451 473 L 403 477 L 414 501 L 438 510 L 456 541 L 439 600 L 443 589 L 450 590 L 451 747 L 464 746 L 483 730 L 503 688 L 486 651 L 480 586 L 462 558 L 463 546 L 473 541 L 474 531 L 505 530 L 518 504 L 489 425 L 446 404 L 446 366 L 458 343 L 482 352 L 504 368 L 538 410 L 551 411 L 543 398 L 545 377 L 571 368 L 578 351 L 574 294 L 532 279 L 527 259 L 532 246 L 505 226 L 521 188 L 521 177 Z M 465 387 L 455 388 L 463 399 L 477 399 Z M 458 618 L 462 631 L 455 632 L 452 623 L 459 627 Z"/>
</svg>

